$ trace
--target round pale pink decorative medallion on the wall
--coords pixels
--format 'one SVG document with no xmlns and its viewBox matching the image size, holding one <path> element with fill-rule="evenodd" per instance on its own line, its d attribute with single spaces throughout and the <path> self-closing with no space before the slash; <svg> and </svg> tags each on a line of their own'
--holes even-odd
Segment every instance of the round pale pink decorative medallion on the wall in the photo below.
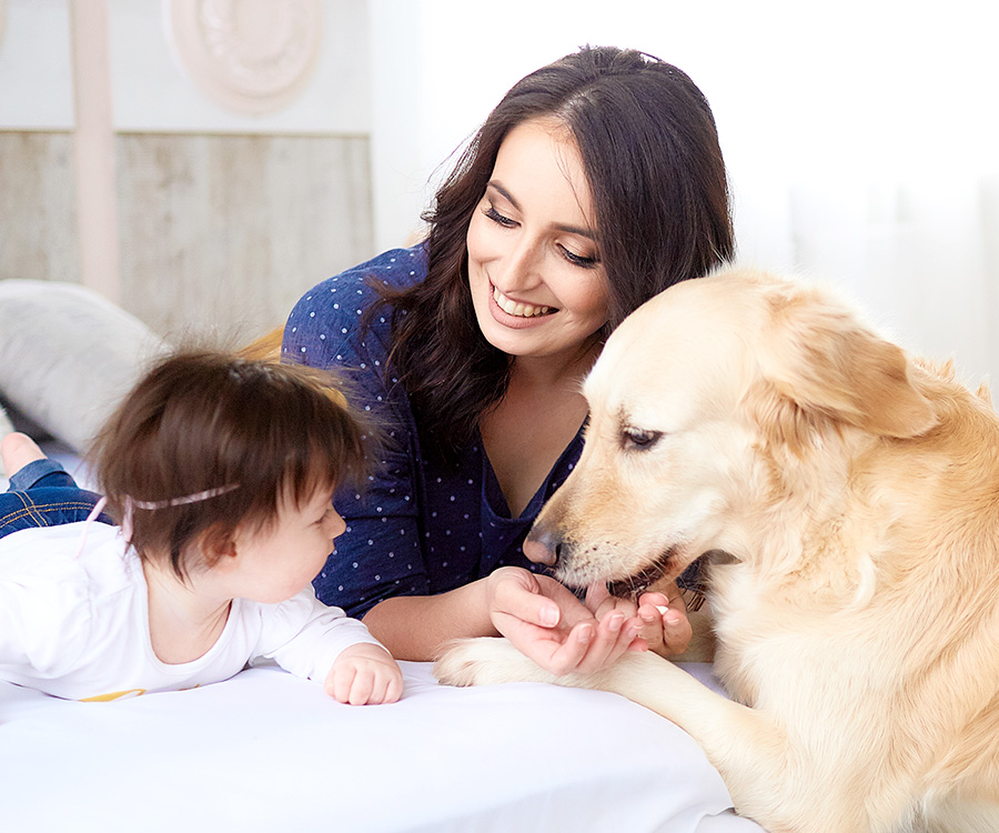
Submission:
<svg viewBox="0 0 999 833">
<path fill-rule="evenodd" d="M 163 0 L 176 58 L 216 103 L 264 116 L 309 82 L 322 41 L 321 0 Z"/>
</svg>

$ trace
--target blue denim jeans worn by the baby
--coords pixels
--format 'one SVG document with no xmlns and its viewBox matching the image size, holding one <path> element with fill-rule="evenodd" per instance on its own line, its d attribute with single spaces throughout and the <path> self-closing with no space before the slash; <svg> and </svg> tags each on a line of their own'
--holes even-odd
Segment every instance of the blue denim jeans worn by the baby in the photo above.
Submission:
<svg viewBox="0 0 999 833">
<path fill-rule="evenodd" d="M 0 494 L 0 538 L 33 526 L 85 521 L 99 499 L 80 489 L 61 463 L 36 460 L 11 475 L 10 489 Z M 97 520 L 114 523 L 103 512 Z"/>
</svg>

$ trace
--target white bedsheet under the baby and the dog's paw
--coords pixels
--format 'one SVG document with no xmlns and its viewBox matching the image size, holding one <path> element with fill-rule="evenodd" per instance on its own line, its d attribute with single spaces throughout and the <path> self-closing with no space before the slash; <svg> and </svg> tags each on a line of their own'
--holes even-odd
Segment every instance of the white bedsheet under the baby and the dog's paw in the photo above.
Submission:
<svg viewBox="0 0 999 833">
<path fill-rule="evenodd" d="M 640 706 L 403 668 L 387 706 L 270 668 L 114 703 L 0 683 L 0 831 L 760 831 L 690 737 Z"/>
</svg>

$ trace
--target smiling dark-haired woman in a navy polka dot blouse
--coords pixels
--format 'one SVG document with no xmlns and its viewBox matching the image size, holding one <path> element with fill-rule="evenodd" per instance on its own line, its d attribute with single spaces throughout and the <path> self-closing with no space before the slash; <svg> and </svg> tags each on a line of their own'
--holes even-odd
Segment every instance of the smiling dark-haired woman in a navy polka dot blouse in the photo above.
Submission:
<svg viewBox="0 0 999 833">
<path fill-rule="evenodd" d="M 521 544 L 578 459 L 606 335 L 733 254 L 707 101 L 675 67 L 584 48 L 504 97 L 426 219 L 424 244 L 319 284 L 285 328 L 285 360 L 351 373 L 386 426 L 380 475 L 336 500 L 320 598 L 401 659 L 497 633 L 555 673 L 682 651 L 675 588 L 587 608 Z"/>
</svg>

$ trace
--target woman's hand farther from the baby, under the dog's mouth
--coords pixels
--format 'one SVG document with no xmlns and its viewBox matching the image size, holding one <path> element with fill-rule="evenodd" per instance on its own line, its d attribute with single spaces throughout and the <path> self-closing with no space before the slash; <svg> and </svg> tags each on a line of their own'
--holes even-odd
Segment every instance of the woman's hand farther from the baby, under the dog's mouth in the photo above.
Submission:
<svg viewBox="0 0 999 833">
<path fill-rule="evenodd" d="M 610 595 L 604 584 L 593 584 L 586 591 L 586 606 L 599 621 L 613 612 L 637 616 L 642 622 L 638 635 L 650 651 L 668 659 L 687 650 L 694 632 L 676 582 L 670 579 L 654 588 L 658 589 L 647 590 L 636 604 Z"/>
</svg>

